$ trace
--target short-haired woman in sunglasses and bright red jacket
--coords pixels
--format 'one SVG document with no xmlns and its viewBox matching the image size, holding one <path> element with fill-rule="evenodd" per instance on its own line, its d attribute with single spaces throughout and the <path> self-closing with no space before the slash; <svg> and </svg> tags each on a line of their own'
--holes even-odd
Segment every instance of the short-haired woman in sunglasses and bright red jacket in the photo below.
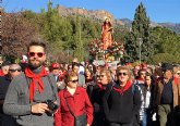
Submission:
<svg viewBox="0 0 180 126">
<path fill-rule="evenodd" d="M 86 90 L 77 87 L 77 75 L 74 72 L 69 72 L 64 76 L 65 89 L 59 92 L 61 100 L 60 108 L 55 114 L 55 126 L 74 126 L 74 116 L 71 114 L 68 104 L 75 116 L 86 114 L 87 125 L 93 122 L 93 105 L 88 99 Z M 65 102 L 67 99 L 67 102 Z"/>
</svg>

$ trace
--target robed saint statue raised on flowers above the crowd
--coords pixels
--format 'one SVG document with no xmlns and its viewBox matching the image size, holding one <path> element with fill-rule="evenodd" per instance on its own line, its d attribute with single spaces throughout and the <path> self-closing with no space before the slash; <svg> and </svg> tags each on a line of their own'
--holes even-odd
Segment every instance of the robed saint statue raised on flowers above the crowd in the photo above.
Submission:
<svg viewBox="0 0 180 126">
<path fill-rule="evenodd" d="M 101 25 L 101 41 L 103 49 L 107 50 L 113 42 L 113 27 L 111 26 L 110 17 L 106 17 Z"/>
</svg>

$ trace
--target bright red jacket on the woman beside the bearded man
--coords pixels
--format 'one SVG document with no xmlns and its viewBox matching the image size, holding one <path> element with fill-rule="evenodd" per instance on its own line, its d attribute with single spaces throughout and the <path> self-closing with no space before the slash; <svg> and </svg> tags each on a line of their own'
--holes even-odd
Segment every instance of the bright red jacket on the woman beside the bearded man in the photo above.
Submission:
<svg viewBox="0 0 180 126">
<path fill-rule="evenodd" d="M 67 106 L 65 99 L 75 116 L 80 116 L 85 112 L 87 123 L 92 125 L 93 105 L 84 88 L 77 87 L 73 96 L 67 89 L 61 90 L 59 98 L 61 102 L 58 112 L 55 114 L 55 126 L 74 126 L 74 117 Z"/>
</svg>

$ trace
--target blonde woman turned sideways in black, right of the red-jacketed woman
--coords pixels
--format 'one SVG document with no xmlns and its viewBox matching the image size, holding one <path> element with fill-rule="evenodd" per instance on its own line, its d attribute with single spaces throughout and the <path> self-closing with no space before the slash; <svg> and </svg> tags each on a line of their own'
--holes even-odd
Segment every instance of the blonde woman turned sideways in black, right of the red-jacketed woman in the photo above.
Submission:
<svg viewBox="0 0 180 126">
<path fill-rule="evenodd" d="M 111 72 L 108 70 L 101 70 L 99 77 L 99 81 L 96 81 L 96 85 L 93 86 L 91 91 L 89 86 L 87 87 L 87 92 L 91 92 L 89 98 L 94 106 L 94 121 L 92 126 L 105 126 L 103 97 L 106 87 L 112 83 Z"/>
</svg>

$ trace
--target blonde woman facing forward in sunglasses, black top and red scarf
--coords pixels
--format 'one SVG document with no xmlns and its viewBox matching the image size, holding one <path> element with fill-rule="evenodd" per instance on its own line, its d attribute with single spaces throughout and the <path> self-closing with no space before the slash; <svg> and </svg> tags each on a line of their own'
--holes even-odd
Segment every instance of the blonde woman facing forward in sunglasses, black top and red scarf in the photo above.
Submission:
<svg viewBox="0 0 180 126">
<path fill-rule="evenodd" d="M 135 126 L 141 108 L 141 92 L 132 84 L 132 72 L 127 66 L 117 70 L 117 83 L 107 86 L 103 106 L 108 126 Z"/>
</svg>

